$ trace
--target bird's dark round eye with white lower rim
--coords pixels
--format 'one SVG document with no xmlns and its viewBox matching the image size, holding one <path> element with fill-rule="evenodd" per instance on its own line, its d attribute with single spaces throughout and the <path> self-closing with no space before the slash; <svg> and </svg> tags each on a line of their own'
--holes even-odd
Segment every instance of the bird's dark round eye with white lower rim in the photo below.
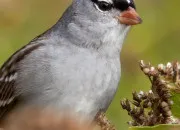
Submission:
<svg viewBox="0 0 180 130">
<path fill-rule="evenodd" d="M 112 4 L 105 1 L 99 1 L 96 3 L 96 5 L 101 11 L 109 11 L 112 9 Z"/>
</svg>

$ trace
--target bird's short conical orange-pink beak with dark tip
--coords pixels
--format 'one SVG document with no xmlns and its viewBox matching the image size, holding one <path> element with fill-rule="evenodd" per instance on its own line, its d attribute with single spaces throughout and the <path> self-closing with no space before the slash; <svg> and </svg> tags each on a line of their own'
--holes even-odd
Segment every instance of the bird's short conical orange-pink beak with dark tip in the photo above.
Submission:
<svg viewBox="0 0 180 130">
<path fill-rule="evenodd" d="M 136 25 L 142 23 L 142 19 L 139 17 L 136 10 L 132 7 L 129 7 L 127 10 L 121 12 L 121 15 L 118 16 L 117 19 L 121 24 L 126 25 Z"/>
</svg>

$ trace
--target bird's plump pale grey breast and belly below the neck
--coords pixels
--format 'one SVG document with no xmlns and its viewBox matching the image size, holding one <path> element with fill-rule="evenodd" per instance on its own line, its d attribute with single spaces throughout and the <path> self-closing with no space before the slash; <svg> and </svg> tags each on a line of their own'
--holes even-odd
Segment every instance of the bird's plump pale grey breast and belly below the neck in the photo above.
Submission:
<svg viewBox="0 0 180 130">
<path fill-rule="evenodd" d="M 26 104 L 93 117 L 107 109 L 118 87 L 119 58 L 107 59 L 83 48 L 48 46 L 26 59 L 20 63 L 17 82 Z"/>
</svg>

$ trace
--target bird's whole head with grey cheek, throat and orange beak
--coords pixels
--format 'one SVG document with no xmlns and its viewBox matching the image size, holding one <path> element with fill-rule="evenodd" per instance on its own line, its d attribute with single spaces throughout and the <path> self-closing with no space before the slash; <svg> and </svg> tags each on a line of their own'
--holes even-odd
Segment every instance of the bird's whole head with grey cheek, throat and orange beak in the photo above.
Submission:
<svg viewBox="0 0 180 130">
<path fill-rule="evenodd" d="M 73 0 L 67 12 L 69 31 L 92 44 L 120 43 L 131 25 L 142 22 L 133 0 Z"/>
</svg>

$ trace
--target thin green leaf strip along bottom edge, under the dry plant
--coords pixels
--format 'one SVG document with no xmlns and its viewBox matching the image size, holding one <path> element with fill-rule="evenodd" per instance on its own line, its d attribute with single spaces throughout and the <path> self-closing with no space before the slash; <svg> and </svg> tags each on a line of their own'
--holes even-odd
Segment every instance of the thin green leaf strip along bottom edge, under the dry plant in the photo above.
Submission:
<svg viewBox="0 0 180 130">
<path fill-rule="evenodd" d="M 180 125 L 158 125 L 152 127 L 130 127 L 129 130 L 180 130 Z"/>
</svg>

